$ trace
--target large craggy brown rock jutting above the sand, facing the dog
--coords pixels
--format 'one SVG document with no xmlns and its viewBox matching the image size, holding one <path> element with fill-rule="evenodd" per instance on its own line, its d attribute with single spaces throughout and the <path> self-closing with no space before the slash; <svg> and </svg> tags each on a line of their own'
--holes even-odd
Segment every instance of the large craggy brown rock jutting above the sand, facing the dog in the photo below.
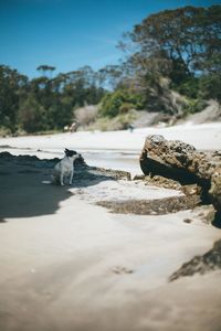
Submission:
<svg viewBox="0 0 221 331">
<path fill-rule="evenodd" d="M 182 185 L 198 184 L 202 203 L 211 202 L 215 217 L 221 217 L 221 151 L 200 152 L 182 141 L 152 135 L 146 138 L 140 168 L 146 175 L 161 175 Z"/>
</svg>

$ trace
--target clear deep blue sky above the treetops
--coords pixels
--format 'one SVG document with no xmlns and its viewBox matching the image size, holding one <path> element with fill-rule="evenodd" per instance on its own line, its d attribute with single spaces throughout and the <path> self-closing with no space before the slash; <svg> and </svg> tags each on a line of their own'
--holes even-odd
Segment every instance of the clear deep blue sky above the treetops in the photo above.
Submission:
<svg viewBox="0 0 221 331">
<path fill-rule="evenodd" d="M 34 77 L 41 64 L 56 72 L 116 64 L 116 44 L 151 13 L 220 0 L 0 0 L 0 64 Z"/>
</svg>

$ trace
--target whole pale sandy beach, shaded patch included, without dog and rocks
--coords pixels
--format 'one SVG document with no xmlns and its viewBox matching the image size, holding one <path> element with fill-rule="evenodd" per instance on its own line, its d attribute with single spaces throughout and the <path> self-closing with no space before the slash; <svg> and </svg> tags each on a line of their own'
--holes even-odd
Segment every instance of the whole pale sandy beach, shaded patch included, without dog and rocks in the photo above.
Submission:
<svg viewBox="0 0 221 331">
<path fill-rule="evenodd" d="M 137 168 L 124 159 L 122 170 L 134 172 L 150 134 L 221 149 L 221 124 L 208 124 L 1 138 L 0 151 L 40 159 L 62 157 L 65 147 L 83 156 L 126 152 Z M 105 161 L 98 166 L 108 168 Z M 86 181 L 76 174 L 72 186 L 55 186 L 45 164 L 0 160 L 1 331 L 221 330 L 220 269 L 169 281 L 185 263 L 210 250 L 221 229 L 202 222 L 198 209 L 137 215 L 97 205 L 176 199 L 180 191 L 96 174 Z"/>
</svg>

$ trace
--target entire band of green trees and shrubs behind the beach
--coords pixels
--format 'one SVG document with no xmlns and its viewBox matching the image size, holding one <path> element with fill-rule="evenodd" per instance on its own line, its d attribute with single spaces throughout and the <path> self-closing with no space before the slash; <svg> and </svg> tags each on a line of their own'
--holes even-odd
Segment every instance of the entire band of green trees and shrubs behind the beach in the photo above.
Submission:
<svg viewBox="0 0 221 331">
<path fill-rule="evenodd" d="M 54 66 L 40 65 L 40 76 L 29 79 L 0 65 L 1 132 L 62 130 L 74 118 L 84 127 L 125 128 L 135 110 L 180 117 L 207 99 L 221 102 L 221 6 L 152 14 L 118 46 L 120 65 L 97 72 L 84 66 L 54 75 Z M 78 109 L 85 105 L 98 106 Z"/>
</svg>

